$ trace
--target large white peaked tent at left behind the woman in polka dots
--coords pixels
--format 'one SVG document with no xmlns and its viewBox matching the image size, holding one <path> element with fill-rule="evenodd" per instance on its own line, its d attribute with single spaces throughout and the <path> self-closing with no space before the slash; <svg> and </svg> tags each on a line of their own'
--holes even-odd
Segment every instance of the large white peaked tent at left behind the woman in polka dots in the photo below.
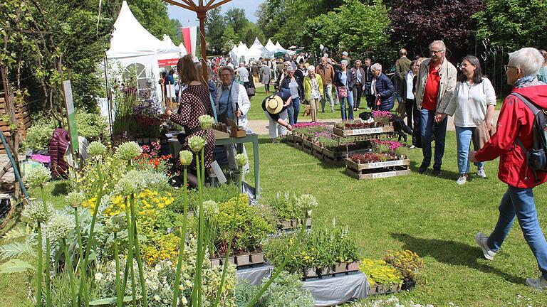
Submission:
<svg viewBox="0 0 547 307">
<path fill-rule="evenodd" d="M 118 64 L 123 74 L 136 72 L 139 90 L 152 90 L 152 96 L 161 100 L 161 88 L 158 60 L 179 58 L 181 48 L 174 45 L 170 38 L 164 41 L 152 36 L 133 16 L 127 2 L 123 1 L 120 14 L 114 23 L 114 32 L 110 39 L 110 49 L 106 52 L 108 60 Z M 116 71 L 116 69 L 112 70 Z"/>
</svg>

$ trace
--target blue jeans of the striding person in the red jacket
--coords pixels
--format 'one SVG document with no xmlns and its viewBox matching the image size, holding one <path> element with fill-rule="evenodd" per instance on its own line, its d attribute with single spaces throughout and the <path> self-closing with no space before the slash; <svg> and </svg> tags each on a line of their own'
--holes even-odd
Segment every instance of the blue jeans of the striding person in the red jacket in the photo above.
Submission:
<svg viewBox="0 0 547 307">
<path fill-rule="evenodd" d="M 497 252 L 513 226 L 515 216 L 519 220 L 524 239 L 536 257 L 543 278 L 547 279 L 547 242 L 541 231 L 536 212 L 536 203 L 531 188 L 515 188 L 509 185 L 499 205 L 499 218 L 496 228 L 486 242 Z"/>
</svg>

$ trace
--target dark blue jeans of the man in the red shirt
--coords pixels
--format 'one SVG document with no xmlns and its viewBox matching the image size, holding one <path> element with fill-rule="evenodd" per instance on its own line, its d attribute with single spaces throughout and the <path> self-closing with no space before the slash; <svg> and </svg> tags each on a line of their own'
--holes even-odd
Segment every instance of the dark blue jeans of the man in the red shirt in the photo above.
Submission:
<svg viewBox="0 0 547 307">
<path fill-rule="evenodd" d="M 442 156 L 444 156 L 444 139 L 447 136 L 447 122 L 448 119 L 444 119 L 442 122 L 436 123 L 435 112 L 422 109 L 422 153 L 424 154 L 424 160 L 422 166 L 429 166 L 431 164 L 431 142 L 433 133 L 435 134 L 435 156 L 433 168 L 441 168 Z"/>
</svg>

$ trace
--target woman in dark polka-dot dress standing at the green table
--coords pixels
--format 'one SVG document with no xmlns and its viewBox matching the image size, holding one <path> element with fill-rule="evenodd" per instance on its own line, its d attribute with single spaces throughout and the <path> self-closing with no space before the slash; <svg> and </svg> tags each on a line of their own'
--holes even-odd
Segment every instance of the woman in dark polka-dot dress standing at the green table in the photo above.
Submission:
<svg viewBox="0 0 547 307">
<path fill-rule="evenodd" d="M 198 118 L 204 114 L 213 116 L 213 109 L 209 99 L 209 88 L 207 84 L 199 81 L 199 74 L 196 65 L 194 65 L 193 56 L 188 54 L 180 58 L 177 63 L 177 71 L 179 72 L 179 80 L 182 84 L 187 85 L 186 89 L 180 94 L 179 109 L 176 113 L 171 109 L 165 110 L 167 117 L 174 123 L 184 127 L 184 137 L 178 137 L 182 144 L 182 150 L 190 150 L 188 139 L 192 136 L 201 136 L 206 138 L 205 144 L 205 168 L 209 168 L 213 159 L 214 149 L 214 134 L 212 130 L 204 131 L 199 126 Z M 179 159 L 175 161 L 175 166 L 182 171 L 184 168 L 180 164 Z M 188 167 L 188 182 L 190 185 L 197 185 L 196 160 L 192 160 L 192 164 Z"/>
</svg>

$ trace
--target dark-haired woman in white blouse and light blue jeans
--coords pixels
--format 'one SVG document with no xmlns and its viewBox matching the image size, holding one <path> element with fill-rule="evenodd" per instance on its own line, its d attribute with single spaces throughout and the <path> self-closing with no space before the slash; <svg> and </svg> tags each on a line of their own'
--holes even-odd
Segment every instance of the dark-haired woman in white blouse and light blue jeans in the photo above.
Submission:
<svg viewBox="0 0 547 307">
<path fill-rule="evenodd" d="M 473 141 L 474 150 L 479 149 L 479 144 L 474 137 L 476 127 L 485 124 L 488 131 L 492 129 L 496 92 L 490 80 L 482 76 L 478 58 L 467 55 L 463 58 L 460 69 L 463 75 L 459 77 L 454 95 L 442 114 L 442 119 L 447 115 L 454 117 L 460 174 L 457 183 L 462 185 L 467 182 L 469 177 L 468 156 L 471 141 Z M 479 168 L 476 176 L 486 178 L 484 162 L 474 164 Z"/>
</svg>

